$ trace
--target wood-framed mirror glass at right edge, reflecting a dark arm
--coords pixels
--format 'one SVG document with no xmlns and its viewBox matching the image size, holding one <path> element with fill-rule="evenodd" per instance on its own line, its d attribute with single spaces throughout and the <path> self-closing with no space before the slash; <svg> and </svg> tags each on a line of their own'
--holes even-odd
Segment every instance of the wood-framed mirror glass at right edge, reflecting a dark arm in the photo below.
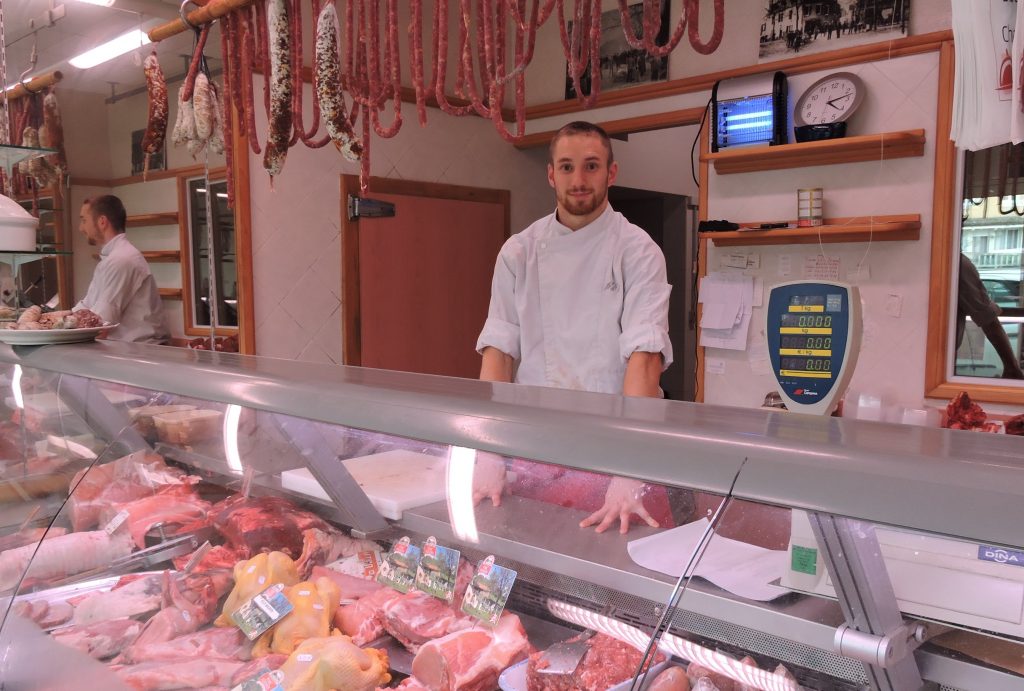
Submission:
<svg viewBox="0 0 1024 691">
<path fill-rule="evenodd" d="M 962 157 L 952 372 L 1024 379 L 1024 146 Z"/>
</svg>

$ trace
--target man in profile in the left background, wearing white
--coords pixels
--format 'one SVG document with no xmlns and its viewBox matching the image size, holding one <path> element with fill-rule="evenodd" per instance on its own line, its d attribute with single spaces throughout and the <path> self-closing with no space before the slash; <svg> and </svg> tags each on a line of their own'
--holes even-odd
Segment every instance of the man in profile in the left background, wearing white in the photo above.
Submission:
<svg viewBox="0 0 1024 691">
<path fill-rule="evenodd" d="M 106 338 L 133 343 L 167 343 L 164 307 L 142 253 L 128 242 L 124 204 L 104 195 L 82 204 L 78 229 L 99 248 L 92 282 L 75 309 L 90 309 L 103 321 L 119 325 Z"/>
</svg>

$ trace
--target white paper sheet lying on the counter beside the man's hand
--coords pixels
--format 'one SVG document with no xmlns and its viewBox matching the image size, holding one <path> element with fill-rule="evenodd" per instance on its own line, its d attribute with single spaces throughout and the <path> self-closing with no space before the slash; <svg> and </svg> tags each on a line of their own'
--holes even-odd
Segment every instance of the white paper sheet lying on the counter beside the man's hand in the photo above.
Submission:
<svg viewBox="0 0 1024 691">
<path fill-rule="evenodd" d="M 660 573 L 679 577 L 690 555 L 708 528 L 707 518 L 629 543 L 634 562 Z M 693 574 L 719 588 L 750 600 L 767 601 L 791 591 L 772 586 L 782 576 L 786 552 L 766 550 L 746 543 L 714 535 Z"/>
</svg>

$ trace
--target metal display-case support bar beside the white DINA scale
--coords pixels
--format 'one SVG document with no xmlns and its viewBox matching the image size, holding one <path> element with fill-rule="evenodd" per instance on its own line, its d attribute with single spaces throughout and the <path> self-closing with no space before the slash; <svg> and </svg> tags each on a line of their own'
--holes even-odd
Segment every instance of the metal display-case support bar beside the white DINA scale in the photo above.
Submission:
<svg viewBox="0 0 1024 691">
<path fill-rule="evenodd" d="M 877 691 L 934 688 L 911 654 L 924 632 L 903 621 L 874 526 L 828 514 L 808 518 L 847 620 L 836 633 L 837 651 L 863 661 Z"/>
</svg>

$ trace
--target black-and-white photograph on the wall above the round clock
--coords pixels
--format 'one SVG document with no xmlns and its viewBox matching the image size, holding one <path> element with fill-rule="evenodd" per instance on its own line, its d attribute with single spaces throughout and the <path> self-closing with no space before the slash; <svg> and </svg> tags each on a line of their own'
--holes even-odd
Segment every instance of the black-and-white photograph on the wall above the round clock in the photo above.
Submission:
<svg viewBox="0 0 1024 691">
<path fill-rule="evenodd" d="M 765 0 L 762 62 L 907 36 L 910 0 Z"/>
</svg>

